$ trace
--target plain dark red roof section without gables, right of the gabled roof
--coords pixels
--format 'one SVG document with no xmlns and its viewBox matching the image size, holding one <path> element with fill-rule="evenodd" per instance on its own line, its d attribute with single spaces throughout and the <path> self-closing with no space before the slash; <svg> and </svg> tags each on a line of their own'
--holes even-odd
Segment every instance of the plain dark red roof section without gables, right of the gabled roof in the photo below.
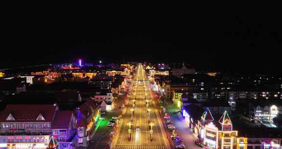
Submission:
<svg viewBox="0 0 282 149">
<path fill-rule="evenodd" d="M 68 129 L 71 123 L 71 111 L 58 111 L 52 123 L 52 129 Z"/>
</svg>

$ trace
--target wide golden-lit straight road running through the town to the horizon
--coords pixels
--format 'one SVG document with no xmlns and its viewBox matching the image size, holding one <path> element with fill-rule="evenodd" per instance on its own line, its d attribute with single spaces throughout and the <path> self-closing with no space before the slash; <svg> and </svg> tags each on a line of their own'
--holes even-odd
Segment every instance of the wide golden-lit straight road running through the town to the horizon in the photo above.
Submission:
<svg viewBox="0 0 282 149">
<path fill-rule="evenodd" d="M 158 107 L 151 102 L 146 105 L 145 99 L 152 99 L 148 80 L 141 65 L 138 65 L 134 82 L 132 83 L 130 100 L 125 104 L 122 119 L 118 124 L 117 136 L 113 141 L 114 149 L 170 149 L 165 137 L 164 127 L 158 113 Z M 135 103 L 135 104 L 134 104 Z M 133 105 L 134 104 L 134 105 Z M 147 115 L 147 109 L 149 114 Z M 134 111 L 133 111 L 134 110 Z M 133 116 L 133 117 L 132 117 Z M 131 135 L 128 133 L 132 121 Z M 150 121 L 150 122 L 149 122 Z M 150 138 L 150 125 L 154 124 L 153 137 Z M 140 130 L 136 130 L 137 127 Z M 130 138 L 130 139 L 129 139 Z"/>
</svg>

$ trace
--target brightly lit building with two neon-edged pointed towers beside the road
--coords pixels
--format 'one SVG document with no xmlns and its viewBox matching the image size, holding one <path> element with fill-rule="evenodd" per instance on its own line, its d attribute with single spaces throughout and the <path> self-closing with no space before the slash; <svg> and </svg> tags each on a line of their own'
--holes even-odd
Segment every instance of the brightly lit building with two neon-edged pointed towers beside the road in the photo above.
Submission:
<svg viewBox="0 0 282 149">
<path fill-rule="evenodd" d="M 206 108 L 200 118 L 197 116 L 198 112 L 193 112 L 200 109 L 190 105 L 183 110 L 185 122 L 198 136 L 199 141 L 210 149 L 236 149 L 238 132 L 233 130 L 228 113 L 225 111 L 217 123 L 209 108 Z"/>
</svg>

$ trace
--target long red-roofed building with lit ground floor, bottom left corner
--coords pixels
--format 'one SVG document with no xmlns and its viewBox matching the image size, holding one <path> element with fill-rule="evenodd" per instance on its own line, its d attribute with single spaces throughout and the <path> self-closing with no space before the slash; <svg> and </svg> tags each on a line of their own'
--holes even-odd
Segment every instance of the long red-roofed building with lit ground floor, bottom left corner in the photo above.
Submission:
<svg viewBox="0 0 282 149">
<path fill-rule="evenodd" d="M 8 104 L 0 112 L 1 149 L 46 149 L 52 136 L 61 149 L 72 149 L 74 126 L 72 112 L 56 104 Z"/>
</svg>

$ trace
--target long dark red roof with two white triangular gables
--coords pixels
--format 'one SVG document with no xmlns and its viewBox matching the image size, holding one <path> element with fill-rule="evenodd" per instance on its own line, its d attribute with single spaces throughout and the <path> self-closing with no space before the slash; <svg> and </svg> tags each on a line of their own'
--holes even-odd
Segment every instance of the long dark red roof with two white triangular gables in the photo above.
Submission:
<svg viewBox="0 0 282 149">
<path fill-rule="evenodd" d="M 0 122 L 51 122 L 57 108 L 53 104 L 8 104 L 0 112 Z M 10 114 L 14 120 L 7 120 Z M 40 114 L 43 119 L 36 120 Z"/>
</svg>

